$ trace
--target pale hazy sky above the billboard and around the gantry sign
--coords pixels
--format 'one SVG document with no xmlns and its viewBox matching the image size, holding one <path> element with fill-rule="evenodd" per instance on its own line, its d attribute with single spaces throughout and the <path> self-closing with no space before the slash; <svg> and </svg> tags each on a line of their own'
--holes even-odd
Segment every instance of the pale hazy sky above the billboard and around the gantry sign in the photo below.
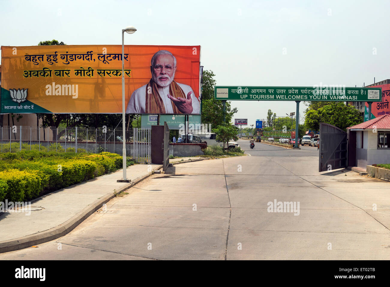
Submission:
<svg viewBox="0 0 390 287">
<path fill-rule="evenodd" d="M 0 0 L 0 45 L 200 45 L 218 86 L 362 87 L 390 78 L 390 1 Z M 248 124 L 295 102 L 232 101 Z M 306 106 L 300 103 L 300 123 Z"/>
</svg>

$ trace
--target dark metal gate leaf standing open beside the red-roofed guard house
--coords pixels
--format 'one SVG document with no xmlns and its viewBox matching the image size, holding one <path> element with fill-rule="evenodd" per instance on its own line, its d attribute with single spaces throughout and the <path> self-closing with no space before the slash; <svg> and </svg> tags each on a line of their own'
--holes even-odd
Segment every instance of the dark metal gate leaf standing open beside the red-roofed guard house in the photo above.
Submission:
<svg viewBox="0 0 390 287">
<path fill-rule="evenodd" d="M 319 124 L 319 171 L 347 167 L 347 133 L 327 123 Z"/>
</svg>

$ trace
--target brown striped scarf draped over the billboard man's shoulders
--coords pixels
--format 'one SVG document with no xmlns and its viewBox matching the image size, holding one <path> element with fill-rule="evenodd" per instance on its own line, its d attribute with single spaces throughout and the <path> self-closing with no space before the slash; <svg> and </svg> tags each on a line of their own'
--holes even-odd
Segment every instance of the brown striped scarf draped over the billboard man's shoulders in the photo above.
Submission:
<svg viewBox="0 0 390 287">
<path fill-rule="evenodd" d="M 151 93 L 148 93 L 150 91 Z M 179 87 L 179 85 L 172 81 L 169 85 L 169 94 L 174 98 L 186 98 L 184 91 Z M 149 83 L 146 86 L 146 104 L 145 104 L 145 113 L 146 114 L 166 114 L 163 100 L 160 97 L 160 93 L 158 92 L 158 86 L 150 79 Z M 182 114 L 182 112 L 177 109 L 176 105 L 170 100 L 173 113 L 174 114 Z"/>
</svg>

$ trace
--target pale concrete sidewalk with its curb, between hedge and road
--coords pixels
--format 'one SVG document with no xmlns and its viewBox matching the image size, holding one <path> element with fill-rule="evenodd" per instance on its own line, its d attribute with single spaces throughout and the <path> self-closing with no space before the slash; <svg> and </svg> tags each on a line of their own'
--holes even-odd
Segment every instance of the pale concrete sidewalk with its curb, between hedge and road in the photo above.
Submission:
<svg viewBox="0 0 390 287">
<path fill-rule="evenodd" d="M 170 159 L 170 163 L 184 163 L 209 158 L 183 157 Z M 151 164 L 152 171 L 162 165 Z M 122 169 L 92 178 L 31 202 L 31 212 L 7 212 L 0 216 L 0 253 L 27 248 L 69 233 L 104 203 L 152 174 L 148 164 L 127 168 L 130 183 L 117 182 Z"/>
</svg>

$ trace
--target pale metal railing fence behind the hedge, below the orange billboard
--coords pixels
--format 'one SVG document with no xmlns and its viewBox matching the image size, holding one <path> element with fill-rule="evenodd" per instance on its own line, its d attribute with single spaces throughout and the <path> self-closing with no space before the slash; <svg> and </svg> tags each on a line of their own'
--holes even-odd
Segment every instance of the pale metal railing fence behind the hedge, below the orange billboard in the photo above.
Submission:
<svg viewBox="0 0 390 287">
<path fill-rule="evenodd" d="M 126 155 L 137 162 L 151 162 L 151 129 L 126 130 Z M 0 152 L 111 152 L 122 155 L 122 128 L 0 127 Z"/>
</svg>

